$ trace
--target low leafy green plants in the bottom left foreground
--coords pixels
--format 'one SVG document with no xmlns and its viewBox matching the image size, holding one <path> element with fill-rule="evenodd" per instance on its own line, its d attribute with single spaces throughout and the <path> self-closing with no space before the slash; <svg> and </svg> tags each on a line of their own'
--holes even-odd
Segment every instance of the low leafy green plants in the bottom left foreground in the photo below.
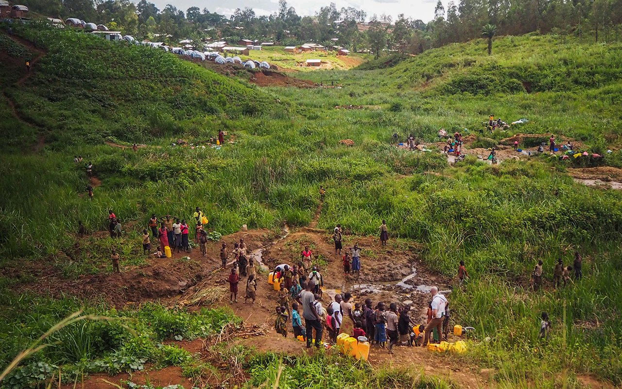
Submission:
<svg viewBox="0 0 622 389">
<path fill-rule="evenodd" d="M 0 316 L 0 367 L 4 368 L 22 349 L 70 312 L 80 309 L 75 299 L 49 299 L 3 294 Z M 86 312 L 117 318 L 137 332 L 114 322 L 81 321 L 53 334 L 50 344 L 14 370 L 2 382 L 2 389 L 18 389 L 45 382 L 62 366 L 63 380 L 73 382 L 83 373 L 132 372 L 146 363 L 155 367 L 177 365 L 192 370 L 197 365 L 192 355 L 171 340 L 191 340 L 220 332 L 239 318 L 222 309 L 202 309 L 197 313 L 167 309 L 157 303 L 142 304 L 139 309 L 117 311 L 104 306 L 88 307 Z"/>
</svg>

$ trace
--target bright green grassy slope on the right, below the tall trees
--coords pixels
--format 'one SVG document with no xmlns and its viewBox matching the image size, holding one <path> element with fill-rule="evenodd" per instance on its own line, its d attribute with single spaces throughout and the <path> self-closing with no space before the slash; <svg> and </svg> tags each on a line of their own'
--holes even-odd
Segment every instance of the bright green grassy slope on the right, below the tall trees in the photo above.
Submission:
<svg viewBox="0 0 622 389">
<path fill-rule="evenodd" d="M 305 91 L 287 94 L 314 108 L 391 108 L 397 112 L 387 131 L 402 136 L 412 131 L 431 140 L 440 127 L 476 132 L 493 114 L 508 123 L 531 120 L 513 132 L 570 136 L 601 153 L 620 148 L 622 45 L 570 38 L 564 43 L 544 35 L 496 39 L 491 57 L 485 50 L 483 40 L 473 40 L 428 50 L 387 69 L 304 73 L 299 77 L 336 80 L 343 88 L 318 91 L 312 100 L 303 98 Z M 531 83 L 532 93 L 524 91 L 523 81 Z"/>
</svg>

